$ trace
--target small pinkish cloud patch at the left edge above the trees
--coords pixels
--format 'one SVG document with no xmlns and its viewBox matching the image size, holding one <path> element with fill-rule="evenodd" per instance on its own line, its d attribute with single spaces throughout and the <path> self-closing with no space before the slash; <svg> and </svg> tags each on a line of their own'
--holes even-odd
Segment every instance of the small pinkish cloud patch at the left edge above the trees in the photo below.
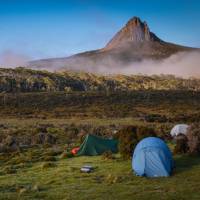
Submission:
<svg viewBox="0 0 200 200">
<path fill-rule="evenodd" d="M 11 50 L 6 50 L 0 53 L 1 67 L 25 66 L 29 60 L 31 60 L 31 57 L 23 54 L 18 54 Z"/>
</svg>

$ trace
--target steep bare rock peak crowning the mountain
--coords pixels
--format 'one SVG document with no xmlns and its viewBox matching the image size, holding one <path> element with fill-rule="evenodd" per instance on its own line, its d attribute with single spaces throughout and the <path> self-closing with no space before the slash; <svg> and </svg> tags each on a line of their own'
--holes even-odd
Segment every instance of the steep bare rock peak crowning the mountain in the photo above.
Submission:
<svg viewBox="0 0 200 200">
<path fill-rule="evenodd" d="M 160 39 L 150 32 L 148 24 L 145 21 L 142 22 L 139 17 L 133 17 L 113 37 L 104 49 L 113 49 L 127 42 L 143 43 L 149 41 L 160 41 Z"/>
</svg>

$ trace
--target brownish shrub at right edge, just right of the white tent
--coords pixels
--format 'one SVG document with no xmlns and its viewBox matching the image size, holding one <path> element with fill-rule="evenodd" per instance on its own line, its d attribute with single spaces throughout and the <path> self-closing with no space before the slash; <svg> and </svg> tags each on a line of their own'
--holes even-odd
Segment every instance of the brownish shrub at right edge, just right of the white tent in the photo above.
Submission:
<svg viewBox="0 0 200 200">
<path fill-rule="evenodd" d="M 200 124 L 193 124 L 187 133 L 190 154 L 200 154 Z"/>
</svg>

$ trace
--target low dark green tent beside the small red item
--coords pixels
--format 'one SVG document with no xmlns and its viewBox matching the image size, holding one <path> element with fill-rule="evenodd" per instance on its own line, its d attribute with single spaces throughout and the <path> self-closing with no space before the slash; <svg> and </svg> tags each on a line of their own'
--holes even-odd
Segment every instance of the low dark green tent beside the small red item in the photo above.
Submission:
<svg viewBox="0 0 200 200">
<path fill-rule="evenodd" d="M 96 156 L 105 151 L 117 153 L 118 141 L 113 139 L 103 139 L 94 135 L 87 135 L 80 146 L 77 155 Z"/>
</svg>

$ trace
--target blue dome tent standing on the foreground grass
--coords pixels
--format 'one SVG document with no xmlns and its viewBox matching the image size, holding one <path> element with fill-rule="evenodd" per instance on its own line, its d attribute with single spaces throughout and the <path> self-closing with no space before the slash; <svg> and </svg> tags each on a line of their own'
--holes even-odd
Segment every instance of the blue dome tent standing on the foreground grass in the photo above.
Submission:
<svg viewBox="0 0 200 200">
<path fill-rule="evenodd" d="M 163 140 L 147 137 L 134 150 L 132 168 L 138 176 L 170 176 L 173 168 L 172 154 Z"/>
</svg>

